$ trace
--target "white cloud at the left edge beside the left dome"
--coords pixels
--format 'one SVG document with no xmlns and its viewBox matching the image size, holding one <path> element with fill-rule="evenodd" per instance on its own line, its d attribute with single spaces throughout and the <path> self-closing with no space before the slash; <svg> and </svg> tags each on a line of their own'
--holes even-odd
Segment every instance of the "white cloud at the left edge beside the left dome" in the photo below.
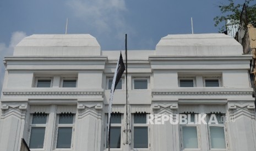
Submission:
<svg viewBox="0 0 256 151">
<path fill-rule="evenodd" d="M 26 37 L 26 33 L 22 31 L 16 31 L 12 33 L 9 46 L 4 43 L 0 43 L 0 90 L 2 90 L 3 78 L 4 78 L 4 65 L 3 59 L 5 56 L 13 55 L 15 45 L 17 45 L 21 39 Z"/>
</svg>

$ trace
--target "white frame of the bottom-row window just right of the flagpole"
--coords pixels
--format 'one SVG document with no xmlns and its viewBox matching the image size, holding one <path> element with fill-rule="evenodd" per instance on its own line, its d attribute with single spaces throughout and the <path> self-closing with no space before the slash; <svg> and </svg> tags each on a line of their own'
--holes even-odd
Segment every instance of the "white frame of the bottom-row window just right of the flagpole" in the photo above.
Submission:
<svg viewBox="0 0 256 151">
<path fill-rule="evenodd" d="M 134 114 L 148 114 L 148 113 L 132 113 L 132 148 L 135 150 L 150 149 L 149 125 L 146 123 L 134 123 Z M 134 127 L 148 127 L 148 148 L 134 148 Z"/>
</svg>

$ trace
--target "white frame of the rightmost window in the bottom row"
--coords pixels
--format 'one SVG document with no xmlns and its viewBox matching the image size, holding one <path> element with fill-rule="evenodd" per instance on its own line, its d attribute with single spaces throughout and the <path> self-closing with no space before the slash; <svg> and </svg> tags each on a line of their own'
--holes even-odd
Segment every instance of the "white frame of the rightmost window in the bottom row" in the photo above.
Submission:
<svg viewBox="0 0 256 151">
<path fill-rule="evenodd" d="M 209 124 L 209 115 L 207 115 L 207 132 L 208 132 L 208 140 L 209 140 L 209 149 L 210 150 L 227 150 L 228 149 L 228 139 L 227 139 L 227 131 L 226 131 L 226 123 L 225 121 L 222 124 Z M 225 114 L 222 114 L 225 116 Z M 224 131 L 224 140 L 225 140 L 225 147 L 226 148 L 211 148 L 211 133 L 210 133 L 210 127 L 223 127 Z"/>
</svg>

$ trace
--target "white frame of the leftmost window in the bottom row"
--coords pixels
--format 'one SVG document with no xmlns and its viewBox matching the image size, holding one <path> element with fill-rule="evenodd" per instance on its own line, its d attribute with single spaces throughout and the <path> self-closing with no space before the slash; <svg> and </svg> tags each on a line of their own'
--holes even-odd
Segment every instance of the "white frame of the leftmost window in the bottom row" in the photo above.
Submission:
<svg viewBox="0 0 256 151">
<path fill-rule="evenodd" d="M 49 114 L 47 113 L 42 113 L 42 114 L 46 114 L 46 123 L 45 124 L 32 124 L 32 120 L 33 120 L 33 117 L 34 115 L 33 114 L 40 114 L 40 113 L 30 113 L 30 119 L 29 119 L 29 122 L 30 122 L 30 125 L 29 125 L 29 141 L 28 141 L 28 146 L 30 147 L 30 138 L 31 138 L 31 131 L 32 131 L 32 127 L 45 127 L 45 138 L 46 138 L 46 132 L 47 132 L 47 124 L 48 124 L 48 118 L 49 118 Z M 45 149 L 45 145 L 46 145 L 46 139 L 43 138 L 43 148 L 31 148 L 31 149 Z"/>
</svg>

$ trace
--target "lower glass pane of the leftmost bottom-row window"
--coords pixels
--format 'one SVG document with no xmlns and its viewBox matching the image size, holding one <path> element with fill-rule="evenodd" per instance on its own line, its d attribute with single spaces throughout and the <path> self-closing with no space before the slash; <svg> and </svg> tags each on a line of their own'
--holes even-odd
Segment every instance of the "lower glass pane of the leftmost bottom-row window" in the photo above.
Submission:
<svg viewBox="0 0 256 151">
<path fill-rule="evenodd" d="M 43 148 L 45 127 L 31 127 L 29 148 Z"/>
</svg>

